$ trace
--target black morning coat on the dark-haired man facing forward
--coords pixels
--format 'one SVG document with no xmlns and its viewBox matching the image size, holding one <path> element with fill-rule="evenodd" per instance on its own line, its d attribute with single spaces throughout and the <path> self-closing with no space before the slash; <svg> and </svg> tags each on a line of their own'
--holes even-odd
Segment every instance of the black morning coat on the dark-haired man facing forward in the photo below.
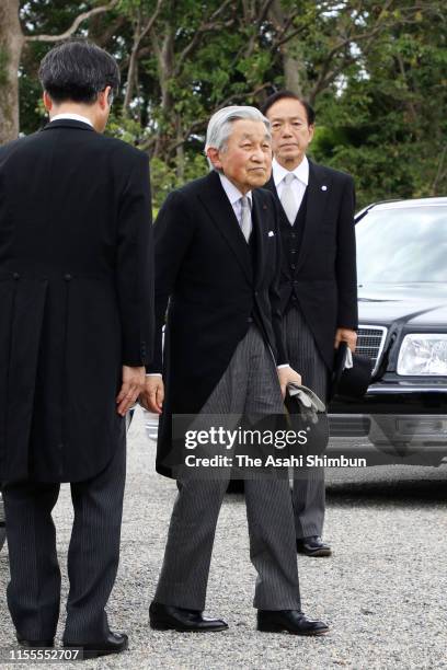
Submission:
<svg viewBox="0 0 447 670">
<path fill-rule="evenodd" d="M 280 226 L 289 227 L 273 176 L 265 187 L 275 195 Z M 358 326 L 354 181 L 348 174 L 309 161 L 306 190 L 305 229 L 293 264 L 283 244 L 282 310 L 284 313 L 293 302 L 299 303 L 321 357 L 332 369 L 336 328 Z"/>
</svg>

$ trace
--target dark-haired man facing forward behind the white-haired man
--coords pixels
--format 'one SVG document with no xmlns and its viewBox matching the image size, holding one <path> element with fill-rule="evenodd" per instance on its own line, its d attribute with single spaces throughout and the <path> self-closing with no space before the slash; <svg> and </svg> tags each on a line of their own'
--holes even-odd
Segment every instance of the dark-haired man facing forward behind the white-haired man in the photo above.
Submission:
<svg viewBox="0 0 447 670">
<path fill-rule="evenodd" d="M 354 182 L 307 159 L 314 113 L 306 101 L 279 91 L 262 111 L 272 124 L 267 187 L 279 205 L 286 350 L 302 383 L 324 401 L 334 349 L 344 340 L 354 351 L 357 339 Z M 329 556 L 331 548 L 321 540 L 324 470 L 300 470 L 293 497 L 298 552 Z"/>
</svg>

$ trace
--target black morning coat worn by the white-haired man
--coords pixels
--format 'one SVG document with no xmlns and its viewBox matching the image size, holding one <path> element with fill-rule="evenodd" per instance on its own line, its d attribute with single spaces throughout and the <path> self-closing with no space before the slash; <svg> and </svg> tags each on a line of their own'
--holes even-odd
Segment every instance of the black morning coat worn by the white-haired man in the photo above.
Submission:
<svg viewBox="0 0 447 670">
<path fill-rule="evenodd" d="M 253 254 L 216 172 L 171 193 L 157 217 L 154 359 L 148 371 L 163 370 L 157 471 L 167 476 L 172 475 L 165 464 L 172 415 L 199 412 L 254 312 L 277 365 L 287 362 L 277 286 L 277 208 L 268 190 L 253 192 L 252 220 Z"/>
</svg>

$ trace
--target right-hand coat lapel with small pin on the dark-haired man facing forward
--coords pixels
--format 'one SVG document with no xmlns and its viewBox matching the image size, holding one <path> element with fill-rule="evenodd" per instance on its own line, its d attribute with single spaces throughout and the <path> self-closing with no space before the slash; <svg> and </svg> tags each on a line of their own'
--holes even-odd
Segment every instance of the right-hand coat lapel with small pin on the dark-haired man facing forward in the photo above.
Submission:
<svg viewBox="0 0 447 670">
<path fill-rule="evenodd" d="M 297 272 L 299 272 L 303 264 L 309 250 L 317 243 L 330 193 L 330 182 L 331 180 L 328 177 L 328 174 L 319 165 L 309 161 L 306 222 L 297 259 Z"/>
</svg>

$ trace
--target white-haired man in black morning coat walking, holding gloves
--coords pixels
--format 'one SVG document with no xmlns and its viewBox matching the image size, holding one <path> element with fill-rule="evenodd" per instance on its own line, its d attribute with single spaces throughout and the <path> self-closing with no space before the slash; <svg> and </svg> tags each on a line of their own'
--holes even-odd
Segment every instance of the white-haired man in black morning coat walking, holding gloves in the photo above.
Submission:
<svg viewBox="0 0 447 670">
<path fill-rule="evenodd" d="M 268 122 L 254 107 L 220 109 L 208 125 L 206 153 L 210 174 L 172 193 L 154 226 L 156 355 L 145 403 L 162 409 L 157 469 L 168 476 L 175 415 L 280 414 L 282 391 L 300 380 L 282 336 L 276 207 L 268 192 L 253 190 L 270 176 Z M 221 631 L 225 621 L 202 612 L 228 481 L 186 471 L 177 478 L 150 622 L 159 629 Z M 288 481 L 248 480 L 245 500 L 259 629 L 325 633 L 300 608 Z"/>
</svg>

